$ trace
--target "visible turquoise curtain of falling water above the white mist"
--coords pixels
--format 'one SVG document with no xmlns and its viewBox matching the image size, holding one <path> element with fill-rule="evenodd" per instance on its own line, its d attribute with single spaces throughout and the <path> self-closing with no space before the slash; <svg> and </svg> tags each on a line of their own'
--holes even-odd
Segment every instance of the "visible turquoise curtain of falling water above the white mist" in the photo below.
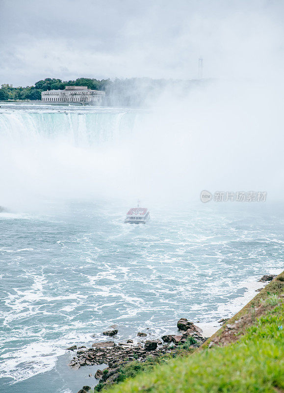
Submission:
<svg viewBox="0 0 284 393">
<path fill-rule="evenodd" d="M 127 111 L 3 111 L 0 140 L 66 139 L 76 146 L 91 146 L 127 137 L 137 113 Z"/>
</svg>

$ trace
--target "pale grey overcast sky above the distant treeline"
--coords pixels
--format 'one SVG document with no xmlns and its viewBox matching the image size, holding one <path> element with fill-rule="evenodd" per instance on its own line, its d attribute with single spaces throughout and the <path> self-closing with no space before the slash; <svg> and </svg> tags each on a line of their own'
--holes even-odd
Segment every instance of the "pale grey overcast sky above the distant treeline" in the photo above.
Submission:
<svg viewBox="0 0 284 393">
<path fill-rule="evenodd" d="M 282 0 L 0 0 L 0 83 L 282 74 Z"/>
</svg>

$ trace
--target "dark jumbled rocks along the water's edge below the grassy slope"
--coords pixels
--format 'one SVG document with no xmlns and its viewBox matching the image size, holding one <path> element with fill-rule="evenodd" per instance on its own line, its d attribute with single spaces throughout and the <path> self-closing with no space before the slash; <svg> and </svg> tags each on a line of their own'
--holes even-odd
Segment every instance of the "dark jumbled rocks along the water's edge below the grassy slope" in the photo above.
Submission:
<svg viewBox="0 0 284 393">
<path fill-rule="evenodd" d="M 274 275 L 265 275 L 259 281 L 270 282 L 274 279 Z M 222 318 L 218 323 L 226 324 L 229 318 Z M 197 322 L 196 322 L 197 323 Z M 115 337 L 118 334 L 117 326 L 113 325 L 111 329 L 103 332 L 104 336 Z M 202 345 L 207 337 L 203 336 L 203 331 L 194 322 L 181 318 L 177 322 L 177 328 L 180 334 L 168 334 L 161 339 L 146 339 L 138 343 L 133 343 L 132 339 L 126 342 L 116 344 L 114 341 L 102 341 L 93 343 L 90 348 L 86 346 L 73 345 L 67 348 L 70 351 L 77 351 L 69 366 L 79 368 L 84 365 L 107 365 L 107 367 L 98 369 L 94 377 L 99 380 L 101 387 L 111 385 L 117 382 L 121 367 L 130 362 L 145 362 L 149 357 L 161 357 L 170 355 L 177 351 L 179 345 L 187 343 L 188 348 L 196 348 Z M 230 328 L 230 326 L 228 327 Z M 148 334 L 138 332 L 137 337 L 144 338 Z M 139 339 L 139 338 L 138 338 Z M 89 377 L 93 377 L 89 374 Z M 91 389 L 84 386 L 78 393 L 86 393 Z"/>
</svg>

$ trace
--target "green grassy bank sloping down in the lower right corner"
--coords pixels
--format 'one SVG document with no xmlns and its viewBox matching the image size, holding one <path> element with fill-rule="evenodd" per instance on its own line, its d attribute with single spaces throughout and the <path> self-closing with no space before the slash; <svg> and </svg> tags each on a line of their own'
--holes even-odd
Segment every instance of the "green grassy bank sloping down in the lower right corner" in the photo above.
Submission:
<svg viewBox="0 0 284 393">
<path fill-rule="evenodd" d="M 214 337 L 228 334 L 225 325 L 192 355 L 153 361 L 147 369 L 129 364 L 121 370 L 126 380 L 102 392 L 284 393 L 283 293 L 284 273 L 228 321 L 247 321 L 234 334 L 237 341 L 207 348 Z"/>
</svg>

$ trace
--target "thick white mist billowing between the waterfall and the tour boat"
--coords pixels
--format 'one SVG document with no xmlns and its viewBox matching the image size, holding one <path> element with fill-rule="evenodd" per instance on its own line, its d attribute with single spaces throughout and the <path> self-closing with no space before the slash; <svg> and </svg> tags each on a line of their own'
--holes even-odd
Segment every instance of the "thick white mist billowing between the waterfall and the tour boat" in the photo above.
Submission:
<svg viewBox="0 0 284 393">
<path fill-rule="evenodd" d="M 137 110 L 128 132 L 122 124 L 100 143 L 84 134 L 51 137 L 40 130 L 2 135 L 1 204 L 137 197 L 196 201 L 203 189 L 266 191 L 270 200 L 281 199 L 281 88 L 215 81 L 185 96 L 166 89 L 151 109 Z M 84 131 L 80 123 L 77 127 Z"/>
</svg>

